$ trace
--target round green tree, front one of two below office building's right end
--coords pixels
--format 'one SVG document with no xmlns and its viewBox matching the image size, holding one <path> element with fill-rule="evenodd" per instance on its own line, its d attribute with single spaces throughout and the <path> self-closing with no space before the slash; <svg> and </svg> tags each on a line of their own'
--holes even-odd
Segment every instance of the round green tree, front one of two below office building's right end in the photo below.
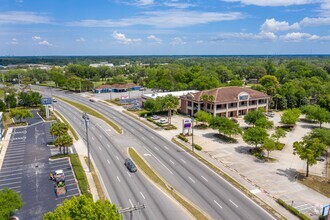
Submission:
<svg viewBox="0 0 330 220">
<path fill-rule="evenodd" d="M 248 128 L 243 134 L 243 140 L 255 147 L 258 147 L 259 144 L 263 144 L 267 137 L 266 129 L 260 127 Z"/>
</svg>

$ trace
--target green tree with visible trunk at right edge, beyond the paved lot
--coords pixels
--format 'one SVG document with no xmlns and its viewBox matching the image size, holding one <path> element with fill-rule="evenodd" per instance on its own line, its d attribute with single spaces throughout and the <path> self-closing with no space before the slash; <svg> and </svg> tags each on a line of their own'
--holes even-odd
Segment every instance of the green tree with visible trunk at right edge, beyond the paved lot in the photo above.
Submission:
<svg viewBox="0 0 330 220">
<path fill-rule="evenodd" d="M 307 119 L 315 120 L 320 123 L 320 128 L 323 123 L 330 122 L 330 112 L 324 108 L 315 105 L 307 105 L 303 106 L 301 109 L 302 112 L 306 114 Z"/>
</svg>

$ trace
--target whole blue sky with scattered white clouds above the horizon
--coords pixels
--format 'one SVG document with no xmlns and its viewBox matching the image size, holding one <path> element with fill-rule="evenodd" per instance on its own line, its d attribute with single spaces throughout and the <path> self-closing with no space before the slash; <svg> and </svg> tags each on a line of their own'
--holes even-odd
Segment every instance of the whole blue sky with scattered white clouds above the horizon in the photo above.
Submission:
<svg viewBox="0 0 330 220">
<path fill-rule="evenodd" d="M 330 54 L 330 0 L 0 0 L 0 56 Z"/>
</svg>

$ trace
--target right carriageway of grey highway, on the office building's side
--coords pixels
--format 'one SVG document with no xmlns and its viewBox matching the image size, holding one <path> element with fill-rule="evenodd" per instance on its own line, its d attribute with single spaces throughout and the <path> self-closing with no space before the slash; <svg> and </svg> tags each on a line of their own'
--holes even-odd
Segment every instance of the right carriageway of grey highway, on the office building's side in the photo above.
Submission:
<svg viewBox="0 0 330 220">
<path fill-rule="evenodd" d="M 208 213 L 210 218 L 274 219 L 212 170 L 128 115 L 70 92 L 56 91 L 56 95 L 83 103 L 116 122 L 123 128 L 124 134 L 112 135 L 111 140 L 129 142 L 129 146 L 144 155 L 172 187 Z"/>
</svg>

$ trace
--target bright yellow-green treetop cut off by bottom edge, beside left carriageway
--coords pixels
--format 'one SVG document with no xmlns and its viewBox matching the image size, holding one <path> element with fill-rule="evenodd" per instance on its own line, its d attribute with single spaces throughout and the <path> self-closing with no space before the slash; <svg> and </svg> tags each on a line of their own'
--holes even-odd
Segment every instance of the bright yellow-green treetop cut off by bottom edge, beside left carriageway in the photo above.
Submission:
<svg viewBox="0 0 330 220">
<path fill-rule="evenodd" d="M 93 200 L 85 195 L 64 200 L 54 212 L 44 215 L 44 220 L 57 219 L 89 219 L 89 220 L 120 220 L 115 204 L 108 200 Z"/>
</svg>

